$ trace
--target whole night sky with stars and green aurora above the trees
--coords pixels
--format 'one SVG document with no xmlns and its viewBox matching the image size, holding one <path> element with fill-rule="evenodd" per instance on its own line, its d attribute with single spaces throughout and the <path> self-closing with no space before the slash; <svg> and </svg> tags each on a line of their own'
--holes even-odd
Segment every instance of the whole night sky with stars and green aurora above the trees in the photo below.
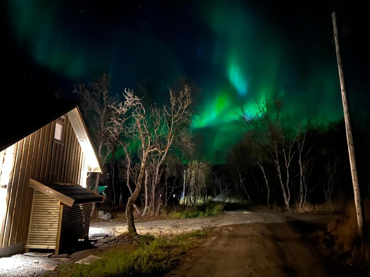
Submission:
<svg viewBox="0 0 370 277">
<path fill-rule="evenodd" d="M 240 137 L 231 122 L 239 106 L 255 114 L 254 102 L 279 89 L 287 113 L 302 122 L 343 118 L 337 11 L 353 118 L 369 116 L 369 24 L 360 2 L 95 2 L 7 1 L 3 96 L 74 97 L 74 83 L 106 71 L 114 93 L 146 81 L 160 102 L 166 86 L 186 75 L 202 89 L 192 129 L 212 157 Z"/>
</svg>

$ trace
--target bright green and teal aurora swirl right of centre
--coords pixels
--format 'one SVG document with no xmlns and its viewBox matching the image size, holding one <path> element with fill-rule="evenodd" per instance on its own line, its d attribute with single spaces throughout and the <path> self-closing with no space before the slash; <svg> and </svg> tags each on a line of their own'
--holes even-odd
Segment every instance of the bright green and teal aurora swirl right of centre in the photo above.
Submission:
<svg viewBox="0 0 370 277">
<path fill-rule="evenodd" d="M 307 72 L 309 76 L 296 86 L 290 76 L 282 74 L 292 66 L 284 65 L 292 59 L 286 38 L 262 31 L 263 24 L 252 14 L 236 8 L 220 7 L 209 16 L 209 25 L 217 38 L 212 63 L 223 69 L 223 78 L 212 80 L 217 84 L 213 89 L 203 87 L 212 93 L 205 93 L 202 113 L 192 123 L 194 131 L 204 134 L 209 157 L 214 150 L 228 149 L 240 137 L 242 129 L 232 120 L 241 106 L 255 115 L 259 112 L 256 102 L 270 100 L 279 89 L 282 90 L 277 97 L 283 99 L 288 116 L 298 117 L 296 120 L 303 124 L 307 118 L 326 124 L 343 116 L 335 52 L 330 57 L 332 64 L 325 61 L 313 66 Z M 328 108 L 321 105 L 324 102 L 335 106 Z"/>
</svg>

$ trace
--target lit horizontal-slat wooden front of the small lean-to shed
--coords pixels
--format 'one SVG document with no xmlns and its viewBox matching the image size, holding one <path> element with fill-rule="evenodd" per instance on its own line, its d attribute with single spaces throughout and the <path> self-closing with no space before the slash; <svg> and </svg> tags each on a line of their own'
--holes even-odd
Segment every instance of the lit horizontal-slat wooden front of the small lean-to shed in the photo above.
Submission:
<svg viewBox="0 0 370 277">
<path fill-rule="evenodd" d="M 35 191 L 26 248 L 55 249 L 59 210 L 58 200 Z"/>
</svg>

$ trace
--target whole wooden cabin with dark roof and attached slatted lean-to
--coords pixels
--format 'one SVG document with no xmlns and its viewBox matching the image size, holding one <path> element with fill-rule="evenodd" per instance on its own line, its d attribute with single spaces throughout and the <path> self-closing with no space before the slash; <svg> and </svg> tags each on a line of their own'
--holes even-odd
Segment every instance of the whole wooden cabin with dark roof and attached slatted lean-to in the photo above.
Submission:
<svg viewBox="0 0 370 277">
<path fill-rule="evenodd" d="M 102 166 L 81 109 L 28 101 L 0 112 L 0 256 L 57 253 L 60 242 L 88 235 L 91 203 L 104 199 L 86 188 Z"/>
</svg>

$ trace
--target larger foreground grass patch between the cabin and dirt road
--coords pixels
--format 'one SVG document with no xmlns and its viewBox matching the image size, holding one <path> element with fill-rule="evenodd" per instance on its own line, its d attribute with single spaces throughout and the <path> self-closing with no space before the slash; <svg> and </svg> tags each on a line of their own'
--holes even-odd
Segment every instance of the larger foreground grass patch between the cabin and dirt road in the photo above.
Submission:
<svg viewBox="0 0 370 277">
<path fill-rule="evenodd" d="M 87 264 L 58 265 L 57 276 L 149 276 L 165 274 L 206 236 L 197 230 L 178 236 L 142 235 L 135 250 L 111 249 Z"/>
</svg>

